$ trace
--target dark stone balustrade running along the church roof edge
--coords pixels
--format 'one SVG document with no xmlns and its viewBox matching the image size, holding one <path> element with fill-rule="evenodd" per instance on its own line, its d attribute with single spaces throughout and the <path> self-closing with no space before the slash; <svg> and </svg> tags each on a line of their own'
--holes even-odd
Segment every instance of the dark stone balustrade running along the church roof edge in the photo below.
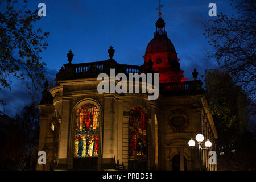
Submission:
<svg viewBox="0 0 256 182">
<path fill-rule="evenodd" d="M 118 64 L 115 60 L 109 59 L 106 61 L 97 61 L 92 63 L 64 64 L 64 67 L 61 67 L 59 73 L 56 75 L 56 81 L 93 78 L 97 77 L 100 73 L 110 75 L 110 69 L 112 68 L 115 69 L 115 75 L 117 73 L 125 73 L 126 75 L 129 73 L 148 73 L 148 71 L 142 66 Z M 200 80 L 160 83 L 159 90 L 164 96 L 201 94 L 204 93 L 202 86 L 203 83 Z"/>
</svg>

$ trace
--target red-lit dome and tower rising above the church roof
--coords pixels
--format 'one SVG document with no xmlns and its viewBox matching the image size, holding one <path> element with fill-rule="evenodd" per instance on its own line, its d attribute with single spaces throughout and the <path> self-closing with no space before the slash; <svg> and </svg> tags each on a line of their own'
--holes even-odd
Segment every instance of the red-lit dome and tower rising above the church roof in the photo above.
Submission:
<svg viewBox="0 0 256 182">
<path fill-rule="evenodd" d="M 162 14 L 159 14 L 162 15 Z M 186 81 L 183 70 L 180 69 L 179 59 L 171 40 L 165 31 L 166 23 L 159 17 L 154 38 L 148 43 L 144 57 L 144 68 L 148 68 L 148 61 L 153 63 L 153 71 L 159 73 L 159 82 L 170 83 Z"/>
</svg>

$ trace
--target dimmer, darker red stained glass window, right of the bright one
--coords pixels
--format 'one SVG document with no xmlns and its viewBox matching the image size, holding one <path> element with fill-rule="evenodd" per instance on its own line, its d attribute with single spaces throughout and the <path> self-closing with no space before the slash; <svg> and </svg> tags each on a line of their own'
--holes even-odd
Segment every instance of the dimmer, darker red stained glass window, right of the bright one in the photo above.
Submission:
<svg viewBox="0 0 256 182">
<path fill-rule="evenodd" d="M 133 107 L 129 118 L 129 160 L 146 161 L 146 113 Z"/>
</svg>

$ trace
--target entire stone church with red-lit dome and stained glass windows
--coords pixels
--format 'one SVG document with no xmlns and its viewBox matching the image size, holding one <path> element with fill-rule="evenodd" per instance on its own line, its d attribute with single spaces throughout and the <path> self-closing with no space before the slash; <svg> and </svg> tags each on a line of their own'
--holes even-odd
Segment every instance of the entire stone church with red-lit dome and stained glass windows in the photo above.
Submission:
<svg viewBox="0 0 256 182">
<path fill-rule="evenodd" d="M 199 170 L 199 151 L 188 146 L 199 133 L 212 142 L 209 150 L 203 150 L 202 165 L 205 170 L 217 169 L 208 163 L 217 133 L 203 83 L 197 80 L 196 70 L 194 80 L 183 77 L 161 15 L 141 66 L 119 64 L 113 59 L 112 46 L 108 60 L 92 63 L 73 64 L 69 51 L 68 63 L 56 75 L 57 84 L 49 90 L 44 85 L 38 105 L 38 150 L 45 151 L 47 159 L 45 165 L 38 164 L 38 170 Z M 97 77 L 100 73 L 110 76 L 110 69 L 125 75 L 159 73 L 159 97 L 99 93 Z M 142 89 L 148 83 L 139 84 Z"/>
</svg>

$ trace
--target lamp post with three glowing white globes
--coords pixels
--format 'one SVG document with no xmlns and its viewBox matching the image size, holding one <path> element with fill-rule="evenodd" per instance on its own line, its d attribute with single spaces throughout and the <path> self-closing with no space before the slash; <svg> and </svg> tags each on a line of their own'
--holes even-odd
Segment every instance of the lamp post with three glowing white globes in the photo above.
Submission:
<svg viewBox="0 0 256 182">
<path fill-rule="evenodd" d="M 199 163 L 200 163 L 200 171 L 202 170 L 202 162 L 201 162 L 201 153 L 202 150 L 208 150 L 208 147 L 212 146 L 212 142 L 209 141 L 209 139 L 204 143 L 205 147 L 207 148 L 203 148 L 203 141 L 204 141 L 204 135 L 202 134 L 197 134 L 196 135 L 196 140 L 197 140 L 197 144 L 199 147 L 195 148 L 193 146 L 195 146 L 196 142 L 191 138 L 191 140 L 189 140 L 188 145 L 191 146 L 193 149 L 198 149 L 199 150 Z"/>
</svg>

